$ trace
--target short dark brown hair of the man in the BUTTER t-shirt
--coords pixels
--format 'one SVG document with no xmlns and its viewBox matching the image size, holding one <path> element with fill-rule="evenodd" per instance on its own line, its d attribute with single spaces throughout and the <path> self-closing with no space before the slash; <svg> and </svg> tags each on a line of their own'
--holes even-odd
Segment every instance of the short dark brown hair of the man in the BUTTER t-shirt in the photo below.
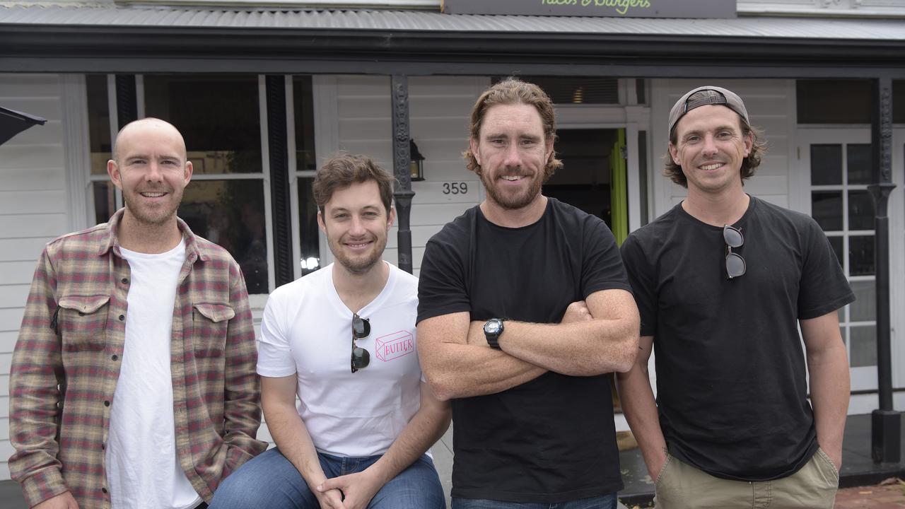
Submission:
<svg viewBox="0 0 905 509">
<path fill-rule="evenodd" d="M 386 169 L 377 166 L 370 158 L 357 154 L 339 154 L 334 158 L 329 158 L 324 166 L 320 167 L 314 176 L 314 183 L 311 185 L 311 189 L 314 191 L 314 203 L 318 204 L 318 209 L 323 214 L 324 206 L 327 206 L 333 193 L 352 184 L 362 184 L 369 180 L 377 183 L 380 201 L 384 203 L 388 213 L 393 203 L 395 178 Z"/>
</svg>

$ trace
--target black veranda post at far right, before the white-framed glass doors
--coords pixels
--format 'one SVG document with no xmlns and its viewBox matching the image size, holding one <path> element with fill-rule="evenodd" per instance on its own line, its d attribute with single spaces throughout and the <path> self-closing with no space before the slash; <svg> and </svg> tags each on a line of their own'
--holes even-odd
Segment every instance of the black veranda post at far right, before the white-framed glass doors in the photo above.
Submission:
<svg viewBox="0 0 905 509">
<path fill-rule="evenodd" d="M 890 318 L 890 218 L 887 216 L 892 183 L 892 80 L 873 80 L 871 158 L 873 183 L 874 263 L 877 289 L 877 388 L 880 408 L 873 410 L 871 449 L 873 461 L 898 463 L 900 459 L 900 414 L 892 408 L 892 360 Z"/>
</svg>

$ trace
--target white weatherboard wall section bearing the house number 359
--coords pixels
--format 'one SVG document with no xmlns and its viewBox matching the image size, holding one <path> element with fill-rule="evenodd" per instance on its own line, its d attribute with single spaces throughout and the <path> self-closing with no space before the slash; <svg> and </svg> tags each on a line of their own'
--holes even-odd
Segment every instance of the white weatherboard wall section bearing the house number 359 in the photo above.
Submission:
<svg viewBox="0 0 905 509">
<path fill-rule="evenodd" d="M 478 177 L 465 168 L 469 116 L 474 101 L 491 84 L 489 78 L 411 77 L 411 136 L 424 155 L 424 181 L 413 182 L 412 255 L 414 273 L 421 267 L 424 245 L 444 224 L 481 202 Z M 360 153 L 393 171 L 393 119 L 390 79 L 384 76 L 336 78 L 338 136 L 336 149 Z M 467 192 L 461 191 L 461 184 Z M 453 184 L 455 186 L 453 186 Z M 444 189 L 449 189 L 444 194 Z M 389 233 L 384 258 L 397 262 L 397 227 Z"/>
</svg>

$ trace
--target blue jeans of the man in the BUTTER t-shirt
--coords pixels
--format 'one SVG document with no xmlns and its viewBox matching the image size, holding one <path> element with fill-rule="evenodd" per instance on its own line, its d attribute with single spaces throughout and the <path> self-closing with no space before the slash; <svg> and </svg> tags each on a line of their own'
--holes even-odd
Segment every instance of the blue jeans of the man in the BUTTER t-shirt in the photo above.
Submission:
<svg viewBox="0 0 905 509">
<path fill-rule="evenodd" d="M 361 472 L 380 456 L 341 457 L 318 453 L 328 478 Z M 277 448 L 265 451 L 224 479 L 211 509 L 320 509 L 318 499 Z M 396 475 L 374 495 L 368 509 L 446 509 L 443 486 L 427 455 Z"/>
</svg>

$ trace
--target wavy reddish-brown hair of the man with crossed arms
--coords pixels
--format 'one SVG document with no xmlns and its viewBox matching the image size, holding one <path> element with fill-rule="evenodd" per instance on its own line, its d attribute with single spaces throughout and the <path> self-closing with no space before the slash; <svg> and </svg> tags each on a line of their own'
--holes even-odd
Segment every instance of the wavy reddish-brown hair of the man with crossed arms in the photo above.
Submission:
<svg viewBox="0 0 905 509">
<path fill-rule="evenodd" d="M 556 141 L 557 116 L 553 111 L 553 101 L 550 101 L 547 92 L 541 90 L 538 85 L 522 82 L 518 78 L 507 78 L 493 85 L 487 91 L 484 91 L 478 101 L 474 103 L 474 108 L 472 108 L 472 126 L 469 130 L 469 135 L 472 139 L 479 139 L 484 114 L 491 106 L 497 104 L 529 104 L 534 106 L 540 114 L 540 121 L 543 123 L 545 141 L 549 143 Z M 563 166 L 562 161 L 557 159 L 556 156 L 556 150 L 550 152 L 550 158 L 544 166 L 545 182 L 553 176 L 553 173 L 558 168 Z M 462 153 L 462 158 L 465 158 L 468 169 L 481 175 L 481 165 L 474 158 L 471 147 Z"/>
</svg>

